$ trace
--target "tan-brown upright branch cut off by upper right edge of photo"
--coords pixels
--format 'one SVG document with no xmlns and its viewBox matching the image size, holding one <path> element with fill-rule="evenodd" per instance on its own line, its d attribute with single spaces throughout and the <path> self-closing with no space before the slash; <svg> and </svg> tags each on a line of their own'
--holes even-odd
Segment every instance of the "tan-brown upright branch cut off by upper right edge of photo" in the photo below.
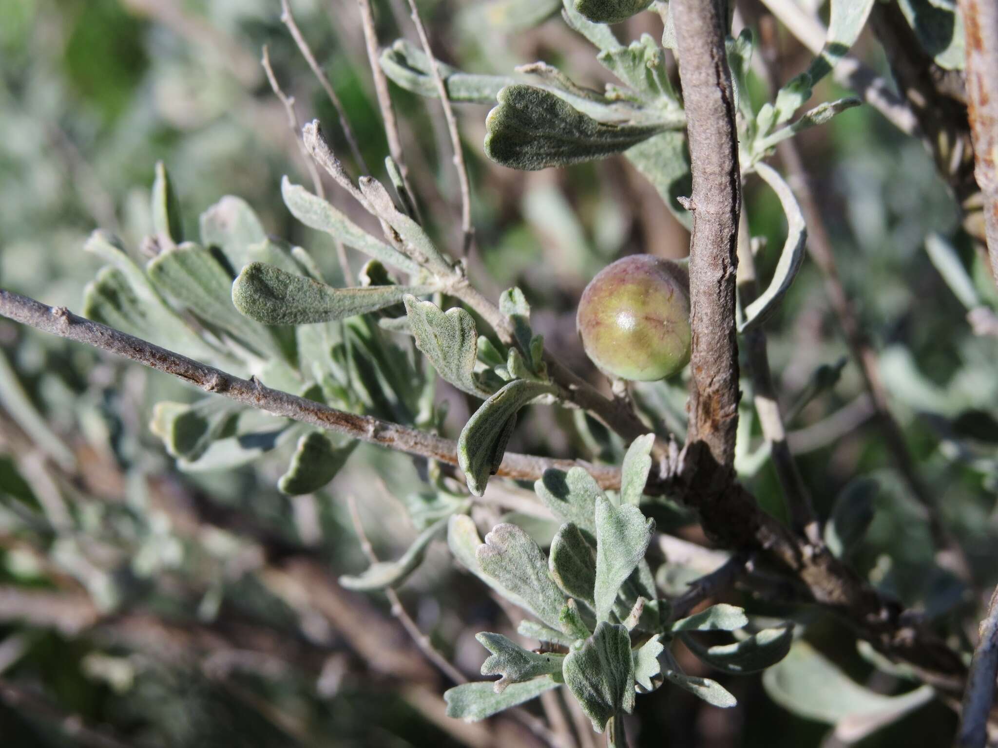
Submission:
<svg viewBox="0 0 998 748">
<path fill-rule="evenodd" d="M 974 177 L 984 195 L 984 230 L 998 283 L 998 0 L 960 0 L 967 40 L 967 117 Z"/>
</svg>

